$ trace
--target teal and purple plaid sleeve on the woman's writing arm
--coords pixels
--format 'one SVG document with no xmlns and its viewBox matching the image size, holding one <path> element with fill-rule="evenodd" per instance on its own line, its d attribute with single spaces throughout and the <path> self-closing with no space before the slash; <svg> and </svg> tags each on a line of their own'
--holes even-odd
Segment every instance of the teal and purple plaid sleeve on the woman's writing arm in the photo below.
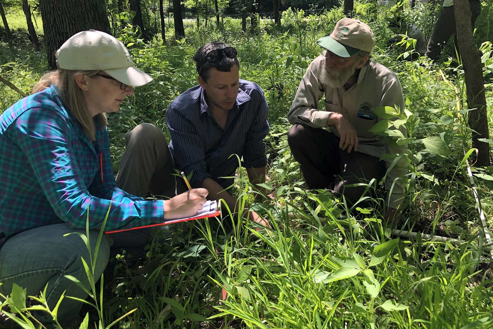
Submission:
<svg viewBox="0 0 493 329">
<path fill-rule="evenodd" d="M 106 179 L 97 192 L 100 196 L 111 195 L 113 200 L 89 192 L 81 175 L 81 170 L 87 169 L 79 168 L 70 125 L 59 113 L 43 108 L 28 110 L 18 117 L 15 128 L 18 146 L 26 154 L 47 201 L 71 228 L 84 228 L 87 217 L 90 228 L 100 228 L 108 209 L 106 230 L 163 221 L 162 201 L 144 201 L 114 189 L 109 142 L 103 152 Z M 95 181 L 101 184 L 97 178 Z"/>
</svg>

